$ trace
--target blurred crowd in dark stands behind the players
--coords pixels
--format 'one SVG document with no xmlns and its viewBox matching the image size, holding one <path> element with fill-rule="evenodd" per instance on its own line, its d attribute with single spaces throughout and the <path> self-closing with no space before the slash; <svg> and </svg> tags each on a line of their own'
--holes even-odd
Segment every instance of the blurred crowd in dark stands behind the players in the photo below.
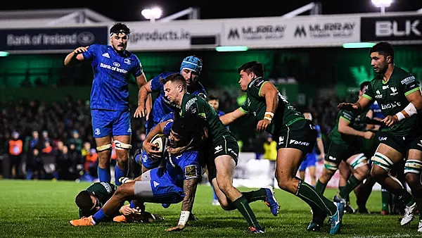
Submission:
<svg viewBox="0 0 422 238">
<path fill-rule="evenodd" d="M 238 101 L 228 93 L 219 95 L 219 110 L 233 111 Z M 329 134 L 335 125 L 338 101 L 315 100 L 299 107 L 309 111 L 314 123 Z M 131 106 L 134 113 L 135 105 Z M 89 102 L 66 96 L 63 102 L 42 101 L 0 103 L 0 176 L 18 179 L 88 180 L 96 177 L 98 154 L 92 137 Z M 132 118 L 131 156 L 145 139 L 144 119 Z M 241 151 L 263 153 L 267 134 L 234 134 Z M 243 144 L 243 146 L 242 146 Z M 115 164 L 115 151 L 112 165 Z M 113 173 L 112 173 L 113 174 Z"/>
</svg>

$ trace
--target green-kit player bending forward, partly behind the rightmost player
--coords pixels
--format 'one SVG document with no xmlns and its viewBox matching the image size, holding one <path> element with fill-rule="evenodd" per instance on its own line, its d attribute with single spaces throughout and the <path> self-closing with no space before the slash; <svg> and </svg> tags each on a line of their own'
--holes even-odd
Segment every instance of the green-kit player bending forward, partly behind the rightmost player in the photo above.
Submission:
<svg viewBox="0 0 422 238">
<path fill-rule="evenodd" d="M 362 97 L 366 89 L 362 83 L 359 89 L 359 97 Z M 339 187 L 340 192 L 334 197 L 334 201 L 343 201 L 349 196 L 366 177 L 369 176 L 368 160 L 363 153 L 363 139 L 372 139 L 374 133 L 366 131 L 366 114 L 340 110 L 337 113 L 335 127 L 331 131 L 331 143 L 328 147 L 324 161 L 324 170 L 316 183 L 316 192 L 324 194 L 328 181 L 331 180 L 335 171 L 338 170 L 342 161 L 353 168 L 353 173 L 348 177 L 345 187 Z"/>
</svg>

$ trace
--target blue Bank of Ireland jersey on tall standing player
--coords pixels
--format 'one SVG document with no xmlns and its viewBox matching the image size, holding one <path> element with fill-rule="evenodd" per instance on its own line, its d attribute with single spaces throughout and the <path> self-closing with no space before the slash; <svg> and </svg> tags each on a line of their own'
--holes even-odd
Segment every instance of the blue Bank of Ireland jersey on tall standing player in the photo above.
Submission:
<svg viewBox="0 0 422 238">
<path fill-rule="evenodd" d="M 91 89 L 91 109 L 112 111 L 129 110 L 129 77 L 142 74 L 139 58 L 129 51 L 123 56 L 112 46 L 92 44 L 82 53 L 84 59 L 91 60 L 94 81 Z"/>
</svg>

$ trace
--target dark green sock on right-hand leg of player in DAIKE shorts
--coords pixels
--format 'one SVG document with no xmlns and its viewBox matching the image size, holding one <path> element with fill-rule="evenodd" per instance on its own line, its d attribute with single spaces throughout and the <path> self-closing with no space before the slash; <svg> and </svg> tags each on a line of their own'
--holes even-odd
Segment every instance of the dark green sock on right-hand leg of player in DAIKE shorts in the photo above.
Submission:
<svg viewBox="0 0 422 238">
<path fill-rule="evenodd" d="M 334 203 L 328 200 L 325 196 L 320 195 L 314 187 L 300 180 L 298 185 L 298 191 L 295 194 L 306 203 L 314 203 L 316 206 L 321 208 L 329 216 L 332 216 L 337 211 L 337 207 Z"/>
</svg>

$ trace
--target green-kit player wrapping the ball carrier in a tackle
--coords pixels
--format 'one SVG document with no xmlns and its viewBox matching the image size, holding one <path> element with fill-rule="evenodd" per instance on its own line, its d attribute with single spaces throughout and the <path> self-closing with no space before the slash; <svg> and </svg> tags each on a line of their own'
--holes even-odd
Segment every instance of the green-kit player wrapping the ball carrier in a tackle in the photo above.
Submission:
<svg viewBox="0 0 422 238">
<path fill-rule="evenodd" d="M 225 210 L 237 208 L 248 222 L 249 232 L 264 233 L 264 228 L 258 223 L 249 203 L 258 200 L 266 201 L 267 206 L 271 208 L 271 213 L 277 215 L 279 204 L 274 198 L 272 188 L 262 188 L 245 193 L 239 192 L 232 182 L 239 151 L 234 135 L 224 127 L 214 108 L 207 101 L 186 91 L 186 80 L 182 75 L 170 75 L 160 81 L 164 84 L 167 99 L 177 108 L 180 108 L 175 113 L 179 113 L 181 117 L 188 114 L 200 115 L 207 121 L 208 149 L 204 151 L 204 154 L 207 156 L 205 160 L 208 180 L 215 189 L 220 206 Z M 174 150 L 170 149 L 169 152 L 174 153 Z"/>
</svg>

